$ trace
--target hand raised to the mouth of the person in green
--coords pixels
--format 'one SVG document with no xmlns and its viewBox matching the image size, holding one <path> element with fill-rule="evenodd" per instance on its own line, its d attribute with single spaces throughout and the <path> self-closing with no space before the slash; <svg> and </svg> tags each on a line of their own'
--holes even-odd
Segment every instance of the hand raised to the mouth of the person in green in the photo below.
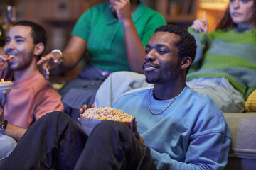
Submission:
<svg viewBox="0 0 256 170">
<path fill-rule="evenodd" d="M 124 23 L 132 21 L 131 4 L 129 0 L 110 0 L 110 8 L 116 13 L 118 20 Z"/>
</svg>

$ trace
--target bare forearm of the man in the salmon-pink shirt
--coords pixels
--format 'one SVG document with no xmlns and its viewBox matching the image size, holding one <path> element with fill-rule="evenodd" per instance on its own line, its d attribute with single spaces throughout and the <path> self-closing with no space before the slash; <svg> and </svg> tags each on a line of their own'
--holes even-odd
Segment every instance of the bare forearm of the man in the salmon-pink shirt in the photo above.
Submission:
<svg viewBox="0 0 256 170">
<path fill-rule="evenodd" d="M 18 127 L 16 125 L 11 125 L 11 123 L 7 123 L 6 130 L 3 133 L 4 135 L 8 135 L 13 137 L 14 140 L 18 141 L 25 134 L 27 129 Z"/>
</svg>

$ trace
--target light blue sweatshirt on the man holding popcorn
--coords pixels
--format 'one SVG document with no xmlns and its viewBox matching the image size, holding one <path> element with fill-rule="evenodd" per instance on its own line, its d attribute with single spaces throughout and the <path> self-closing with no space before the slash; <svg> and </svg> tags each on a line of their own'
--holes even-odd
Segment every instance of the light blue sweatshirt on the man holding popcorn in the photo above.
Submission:
<svg viewBox="0 0 256 170">
<path fill-rule="evenodd" d="M 153 89 L 119 98 L 114 108 L 137 119 L 137 130 L 151 148 L 157 169 L 224 169 L 228 162 L 231 135 L 223 113 L 212 99 L 186 86 L 163 113 L 149 111 Z M 171 102 L 151 97 L 155 113 Z"/>
</svg>

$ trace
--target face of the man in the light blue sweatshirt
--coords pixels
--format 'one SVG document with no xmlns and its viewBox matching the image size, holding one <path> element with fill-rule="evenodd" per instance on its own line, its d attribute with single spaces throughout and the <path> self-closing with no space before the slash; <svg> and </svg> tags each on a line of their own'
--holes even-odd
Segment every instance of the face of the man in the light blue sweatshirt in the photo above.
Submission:
<svg viewBox="0 0 256 170">
<path fill-rule="evenodd" d="M 146 81 L 166 84 L 177 79 L 181 72 L 181 59 L 175 42 L 180 36 L 169 32 L 156 32 L 146 45 L 143 70 Z"/>
</svg>

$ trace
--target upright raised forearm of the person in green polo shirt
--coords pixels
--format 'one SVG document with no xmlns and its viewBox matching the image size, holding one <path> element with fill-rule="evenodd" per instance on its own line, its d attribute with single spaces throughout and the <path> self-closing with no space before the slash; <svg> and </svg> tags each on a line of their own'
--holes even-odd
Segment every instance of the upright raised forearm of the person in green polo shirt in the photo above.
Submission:
<svg viewBox="0 0 256 170">
<path fill-rule="evenodd" d="M 130 21 L 122 23 L 122 26 L 124 28 L 124 40 L 129 68 L 132 72 L 142 73 L 142 64 L 146 55 L 142 40 L 139 38 L 132 18 Z"/>
</svg>

